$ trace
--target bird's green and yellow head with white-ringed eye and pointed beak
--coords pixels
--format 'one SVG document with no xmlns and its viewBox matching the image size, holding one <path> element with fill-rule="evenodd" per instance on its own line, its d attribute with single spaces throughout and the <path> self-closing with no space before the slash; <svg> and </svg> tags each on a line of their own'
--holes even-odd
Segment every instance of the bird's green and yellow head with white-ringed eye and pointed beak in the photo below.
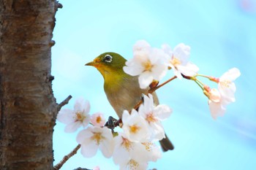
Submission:
<svg viewBox="0 0 256 170">
<path fill-rule="evenodd" d="M 106 80 L 110 77 L 116 78 L 118 75 L 125 74 L 123 67 L 126 61 L 118 53 L 102 53 L 94 61 L 86 63 L 86 66 L 94 66 Z"/>
</svg>

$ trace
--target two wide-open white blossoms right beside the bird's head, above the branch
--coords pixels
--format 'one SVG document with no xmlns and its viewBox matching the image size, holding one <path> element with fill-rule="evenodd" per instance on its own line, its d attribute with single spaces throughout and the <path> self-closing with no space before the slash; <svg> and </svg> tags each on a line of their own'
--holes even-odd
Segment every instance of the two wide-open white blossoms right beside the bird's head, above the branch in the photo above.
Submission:
<svg viewBox="0 0 256 170">
<path fill-rule="evenodd" d="M 172 50 L 167 44 L 162 48 L 151 47 L 145 40 L 140 40 L 133 47 L 133 58 L 126 62 L 124 72 L 132 76 L 139 76 L 140 88 L 148 88 L 153 80 L 165 77 L 167 69 L 173 69 L 179 79 L 181 74 L 193 77 L 198 67 L 189 62 L 190 47 L 183 43 Z"/>
</svg>

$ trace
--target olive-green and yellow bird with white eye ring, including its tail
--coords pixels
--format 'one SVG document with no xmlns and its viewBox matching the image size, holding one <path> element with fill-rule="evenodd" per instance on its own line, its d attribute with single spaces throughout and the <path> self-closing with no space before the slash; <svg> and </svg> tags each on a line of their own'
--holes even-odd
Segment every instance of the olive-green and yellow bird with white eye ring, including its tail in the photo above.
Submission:
<svg viewBox="0 0 256 170">
<path fill-rule="evenodd" d="M 124 72 L 126 59 L 118 53 L 102 53 L 94 61 L 86 63 L 86 66 L 94 66 L 104 79 L 105 94 L 110 105 L 121 118 L 124 110 L 132 110 L 140 101 L 142 94 L 148 93 L 148 88 L 141 89 L 138 76 L 131 76 Z M 157 93 L 152 93 L 154 104 L 158 105 Z M 162 150 L 173 150 L 173 144 L 165 134 L 165 138 L 159 141 Z"/>
</svg>

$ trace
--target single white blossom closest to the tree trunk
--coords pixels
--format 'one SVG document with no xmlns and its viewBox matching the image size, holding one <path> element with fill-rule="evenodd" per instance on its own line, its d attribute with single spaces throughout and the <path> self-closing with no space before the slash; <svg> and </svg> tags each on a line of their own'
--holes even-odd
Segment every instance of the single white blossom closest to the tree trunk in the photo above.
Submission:
<svg viewBox="0 0 256 170">
<path fill-rule="evenodd" d="M 84 101 L 83 98 L 78 98 L 75 101 L 74 109 L 61 109 L 57 115 L 59 122 L 67 124 L 65 132 L 71 133 L 76 131 L 80 126 L 84 128 L 89 125 L 90 121 L 90 104 L 89 101 Z"/>
</svg>

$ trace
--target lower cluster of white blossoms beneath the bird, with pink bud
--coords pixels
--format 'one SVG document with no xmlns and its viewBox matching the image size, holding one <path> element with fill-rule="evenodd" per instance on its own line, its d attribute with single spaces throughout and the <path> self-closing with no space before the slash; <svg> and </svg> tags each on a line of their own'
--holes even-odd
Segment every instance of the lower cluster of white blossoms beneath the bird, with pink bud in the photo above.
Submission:
<svg viewBox="0 0 256 170">
<path fill-rule="evenodd" d="M 67 124 L 65 131 L 74 132 L 81 126 L 77 142 L 81 145 L 81 154 L 90 158 L 101 150 L 106 158 L 120 169 L 146 169 L 148 161 L 161 158 L 159 146 L 154 142 L 165 138 L 161 121 L 170 116 L 172 109 L 167 105 L 154 106 L 153 96 L 144 95 L 144 102 L 138 111 L 124 110 L 122 131 L 115 136 L 105 125 L 102 113 L 89 115 L 90 104 L 82 98 L 75 102 L 74 109 L 61 109 L 57 120 Z"/>
</svg>

